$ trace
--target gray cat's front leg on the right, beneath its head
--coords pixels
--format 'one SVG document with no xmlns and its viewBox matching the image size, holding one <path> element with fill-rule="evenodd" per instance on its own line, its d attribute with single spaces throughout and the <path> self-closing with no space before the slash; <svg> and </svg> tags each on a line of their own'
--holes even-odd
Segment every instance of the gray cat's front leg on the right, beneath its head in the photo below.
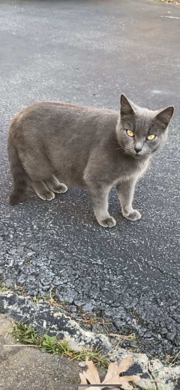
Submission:
<svg viewBox="0 0 180 390">
<path fill-rule="evenodd" d="M 136 221 L 141 218 L 139 211 L 133 209 L 132 207 L 135 183 L 136 182 L 134 180 L 128 180 L 120 182 L 116 185 L 122 208 L 122 214 L 125 218 L 131 221 Z"/>
</svg>

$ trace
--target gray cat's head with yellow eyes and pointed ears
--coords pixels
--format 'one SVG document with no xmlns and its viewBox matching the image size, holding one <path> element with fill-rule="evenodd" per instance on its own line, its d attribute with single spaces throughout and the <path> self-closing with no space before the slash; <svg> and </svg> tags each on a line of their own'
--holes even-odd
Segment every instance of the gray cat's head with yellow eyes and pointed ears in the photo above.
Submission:
<svg viewBox="0 0 180 390">
<path fill-rule="evenodd" d="M 138 107 L 122 94 L 116 126 L 119 150 L 134 158 L 148 157 L 156 152 L 167 140 L 173 112 L 173 106 L 159 111 Z"/>
</svg>

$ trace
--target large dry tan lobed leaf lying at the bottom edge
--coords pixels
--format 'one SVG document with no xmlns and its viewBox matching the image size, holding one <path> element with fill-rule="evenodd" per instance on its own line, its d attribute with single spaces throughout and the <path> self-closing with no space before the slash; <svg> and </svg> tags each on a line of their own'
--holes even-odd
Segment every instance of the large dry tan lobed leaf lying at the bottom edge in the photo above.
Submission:
<svg viewBox="0 0 180 390">
<path fill-rule="evenodd" d="M 88 390 L 102 390 L 104 387 L 109 387 L 108 385 L 122 385 L 122 389 L 132 390 L 133 386 L 131 386 L 129 382 L 133 381 L 134 383 L 138 383 L 140 379 L 137 375 L 119 376 L 120 373 L 129 369 L 130 365 L 132 364 L 131 356 L 124 358 L 119 365 L 116 362 L 109 363 L 107 374 L 102 383 L 100 382 L 99 374 L 94 366 L 94 363 L 92 361 L 86 360 L 86 364 L 88 366 L 87 371 L 83 371 L 83 374 L 79 374 L 81 379 L 80 384 L 87 385 L 89 382 L 90 385 L 97 385 L 97 387 L 79 387 L 78 390 L 85 390 L 86 388 Z"/>
</svg>

